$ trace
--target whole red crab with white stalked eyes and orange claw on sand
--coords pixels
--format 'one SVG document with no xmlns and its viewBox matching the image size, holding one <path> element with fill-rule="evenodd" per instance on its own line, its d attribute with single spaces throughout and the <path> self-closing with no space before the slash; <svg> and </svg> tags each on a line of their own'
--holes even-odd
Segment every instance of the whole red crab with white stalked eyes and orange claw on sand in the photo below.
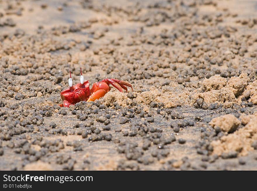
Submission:
<svg viewBox="0 0 257 191">
<path fill-rule="evenodd" d="M 89 81 L 87 80 L 84 82 L 84 76 L 82 75 L 81 68 L 80 73 L 80 83 L 72 85 L 70 72 L 70 78 L 68 80 L 70 88 L 61 92 L 63 104 L 60 104 L 59 106 L 69 107 L 70 105 L 74 105 L 80 101 L 95 101 L 111 90 L 111 87 L 109 86 L 110 84 L 120 92 L 122 92 L 123 89 L 128 92 L 128 88 L 126 86 L 131 87 L 133 91 L 133 87 L 130 83 L 109 78 L 93 83 L 92 88 L 89 89 Z"/>
</svg>

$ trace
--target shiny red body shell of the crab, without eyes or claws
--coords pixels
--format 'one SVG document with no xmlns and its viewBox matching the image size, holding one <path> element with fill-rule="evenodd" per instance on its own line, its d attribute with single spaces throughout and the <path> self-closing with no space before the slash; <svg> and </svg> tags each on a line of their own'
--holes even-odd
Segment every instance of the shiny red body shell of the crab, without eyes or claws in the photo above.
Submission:
<svg viewBox="0 0 257 191">
<path fill-rule="evenodd" d="M 60 94 L 62 101 L 66 100 L 70 104 L 87 101 L 90 96 L 89 81 L 87 80 L 83 84 L 75 84 L 69 89 L 63 90 Z"/>
</svg>

